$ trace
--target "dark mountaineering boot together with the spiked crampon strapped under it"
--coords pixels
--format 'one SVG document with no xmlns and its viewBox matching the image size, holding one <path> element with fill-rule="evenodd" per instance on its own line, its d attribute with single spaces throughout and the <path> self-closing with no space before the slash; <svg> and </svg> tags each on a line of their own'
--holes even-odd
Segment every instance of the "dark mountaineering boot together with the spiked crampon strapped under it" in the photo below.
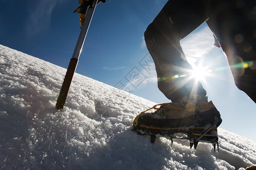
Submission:
<svg viewBox="0 0 256 170">
<path fill-rule="evenodd" d="M 159 107 L 160 106 L 160 107 Z M 156 109 L 155 112 L 150 112 Z M 218 144 L 217 127 L 220 113 L 212 101 L 203 95 L 183 97 L 173 103 L 158 104 L 141 112 L 134 119 L 134 130 L 139 134 L 177 138 L 185 134 L 195 147 L 199 141 Z"/>
</svg>

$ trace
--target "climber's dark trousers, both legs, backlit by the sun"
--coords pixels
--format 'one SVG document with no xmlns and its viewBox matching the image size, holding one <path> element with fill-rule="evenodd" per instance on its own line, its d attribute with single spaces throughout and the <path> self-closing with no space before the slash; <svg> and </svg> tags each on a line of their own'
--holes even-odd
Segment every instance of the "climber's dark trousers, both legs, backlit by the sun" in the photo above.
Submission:
<svg viewBox="0 0 256 170">
<path fill-rule="evenodd" d="M 255 1 L 170 0 L 148 25 L 144 38 L 155 62 L 159 90 L 176 101 L 193 94 L 206 95 L 189 75 L 180 40 L 207 21 L 217 37 L 240 90 L 256 100 Z"/>
</svg>

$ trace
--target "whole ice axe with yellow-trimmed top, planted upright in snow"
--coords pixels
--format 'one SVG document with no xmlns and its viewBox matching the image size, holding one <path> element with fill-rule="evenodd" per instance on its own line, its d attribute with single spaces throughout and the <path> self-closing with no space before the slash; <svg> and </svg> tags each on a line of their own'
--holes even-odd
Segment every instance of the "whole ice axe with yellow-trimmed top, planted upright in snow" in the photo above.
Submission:
<svg viewBox="0 0 256 170">
<path fill-rule="evenodd" d="M 79 39 L 76 42 L 76 47 L 73 52 L 73 56 L 69 62 L 67 73 L 65 75 L 63 84 L 61 86 L 60 94 L 57 99 L 56 109 L 63 109 L 65 101 L 68 96 L 68 91 L 71 86 L 71 82 L 73 79 L 73 75 L 76 71 L 76 66 L 79 61 L 79 56 L 81 53 L 82 46 L 84 45 L 84 40 L 86 37 L 86 33 L 88 32 L 88 28 L 90 25 L 90 21 L 92 20 L 92 16 L 94 10 L 99 2 L 106 2 L 105 0 L 79 0 L 81 6 L 79 6 L 74 12 L 80 13 L 80 24 L 81 24 L 81 32 L 79 35 Z"/>
</svg>

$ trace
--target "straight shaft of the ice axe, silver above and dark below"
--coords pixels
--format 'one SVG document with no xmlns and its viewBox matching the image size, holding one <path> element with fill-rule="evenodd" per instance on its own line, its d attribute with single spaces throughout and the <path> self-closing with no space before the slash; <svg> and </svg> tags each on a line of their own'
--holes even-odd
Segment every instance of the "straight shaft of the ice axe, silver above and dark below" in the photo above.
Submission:
<svg viewBox="0 0 256 170">
<path fill-rule="evenodd" d="M 82 46 L 84 45 L 84 40 L 85 40 L 86 34 L 88 32 L 90 21 L 92 20 L 94 10 L 97 6 L 97 1 L 98 0 L 94 0 L 93 6 L 88 7 L 88 10 L 86 12 L 85 21 L 82 26 L 82 29 L 81 29 L 81 32 L 79 35 L 79 39 L 77 40 L 76 47 L 73 52 L 73 56 L 69 62 L 67 73 L 65 75 L 63 84 L 61 86 L 60 94 L 59 94 L 59 97 L 58 97 L 57 103 L 56 103 L 56 109 L 63 109 L 63 107 L 64 107 L 65 101 L 68 96 L 68 91 L 69 91 L 69 88 L 71 86 L 71 82 L 73 79 L 73 75 L 75 74 L 76 66 L 79 61 L 79 56 L 80 56 L 80 53 L 82 50 Z"/>
</svg>

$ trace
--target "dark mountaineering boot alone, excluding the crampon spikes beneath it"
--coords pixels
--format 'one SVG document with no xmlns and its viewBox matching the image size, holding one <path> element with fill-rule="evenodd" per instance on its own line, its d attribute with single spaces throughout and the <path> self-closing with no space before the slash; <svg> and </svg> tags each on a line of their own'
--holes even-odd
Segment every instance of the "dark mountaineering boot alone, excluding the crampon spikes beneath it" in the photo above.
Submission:
<svg viewBox="0 0 256 170">
<path fill-rule="evenodd" d="M 140 126 L 179 131 L 183 128 L 207 128 L 221 118 L 212 101 L 208 102 L 205 96 L 195 95 L 192 99 L 183 97 L 174 103 L 160 104 L 154 113 L 142 112 L 138 120 Z"/>
</svg>

